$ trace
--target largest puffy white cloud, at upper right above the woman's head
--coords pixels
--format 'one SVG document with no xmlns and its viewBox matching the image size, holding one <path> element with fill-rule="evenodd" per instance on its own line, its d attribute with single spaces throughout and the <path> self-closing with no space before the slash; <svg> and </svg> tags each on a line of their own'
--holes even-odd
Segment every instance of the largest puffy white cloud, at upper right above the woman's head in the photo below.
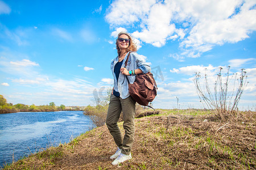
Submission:
<svg viewBox="0 0 256 170">
<path fill-rule="evenodd" d="M 200 57 L 216 45 L 236 43 L 256 31 L 255 5 L 250 0 L 119 0 L 105 18 L 114 28 L 139 23 L 131 33 L 136 39 L 157 47 L 179 40 L 179 55 Z"/>
</svg>

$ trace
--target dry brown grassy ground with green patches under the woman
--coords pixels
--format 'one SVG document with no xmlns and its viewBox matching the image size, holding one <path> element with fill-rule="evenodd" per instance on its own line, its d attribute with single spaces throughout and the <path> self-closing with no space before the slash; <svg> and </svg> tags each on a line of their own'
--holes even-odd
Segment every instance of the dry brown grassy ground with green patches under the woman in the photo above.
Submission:
<svg viewBox="0 0 256 170">
<path fill-rule="evenodd" d="M 133 159 L 113 166 L 106 125 L 4 169 L 256 169 L 256 113 L 163 110 L 135 119 Z M 119 122 L 122 132 L 122 122 Z"/>
</svg>

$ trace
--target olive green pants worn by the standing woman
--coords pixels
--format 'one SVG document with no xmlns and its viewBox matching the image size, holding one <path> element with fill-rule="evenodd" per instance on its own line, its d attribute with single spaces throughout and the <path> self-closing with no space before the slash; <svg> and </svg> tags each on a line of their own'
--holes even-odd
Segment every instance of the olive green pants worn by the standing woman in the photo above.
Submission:
<svg viewBox="0 0 256 170">
<path fill-rule="evenodd" d="M 130 155 L 134 142 L 135 103 L 136 101 L 131 96 L 126 99 L 121 99 L 121 97 L 114 95 L 110 96 L 106 125 L 114 138 L 115 144 L 122 149 L 121 152 L 125 155 Z M 123 138 L 117 125 L 121 112 L 123 112 L 123 129 L 125 129 Z"/>
</svg>

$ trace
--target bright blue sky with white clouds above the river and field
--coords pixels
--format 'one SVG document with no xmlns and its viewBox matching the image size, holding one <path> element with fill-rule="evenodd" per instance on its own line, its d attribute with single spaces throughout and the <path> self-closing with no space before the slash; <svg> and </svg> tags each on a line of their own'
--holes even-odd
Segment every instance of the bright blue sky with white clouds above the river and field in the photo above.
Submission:
<svg viewBox="0 0 256 170">
<path fill-rule="evenodd" d="M 207 68 L 212 86 L 218 67 L 231 66 L 248 76 L 240 109 L 255 110 L 255 30 L 255 0 L 0 0 L 0 94 L 13 104 L 93 105 L 113 87 L 114 41 L 127 31 L 151 63 L 155 108 L 177 108 L 177 98 L 204 108 L 195 73 Z"/>
</svg>

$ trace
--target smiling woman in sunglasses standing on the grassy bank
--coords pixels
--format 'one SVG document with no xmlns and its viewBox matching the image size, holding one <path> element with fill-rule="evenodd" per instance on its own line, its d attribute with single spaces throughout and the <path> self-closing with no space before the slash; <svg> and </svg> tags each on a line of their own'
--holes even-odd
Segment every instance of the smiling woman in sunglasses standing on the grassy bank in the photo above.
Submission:
<svg viewBox="0 0 256 170">
<path fill-rule="evenodd" d="M 115 42 L 117 45 L 118 56 L 111 62 L 111 70 L 114 76 L 114 87 L 110 96 L 108 115 L 106 117 L 106 125 L 110 134 L 112 134 L 117 151 L 110 159 L 115 159 L 112 164 L 118 165 L 131 159 L 131 147 L 134 142 L 134 115 L 135 101 L 131 98 L 128 90 L 128 81 L 134 83 L 135 76 L 150 71 L 150 66 L 144 59 L 135 53 L 137 46 L 134 44 L 131 36 L 126 32 L 120 32 Z M 129 54 L 130 53 L 130 54 Z M 127 66 L 125 62 L 127 56 Z M 125 135 L 122 138 L 121 131 L 117 122 L 119 116 L 123 113 L 123 129 Z"/>
</svg>

